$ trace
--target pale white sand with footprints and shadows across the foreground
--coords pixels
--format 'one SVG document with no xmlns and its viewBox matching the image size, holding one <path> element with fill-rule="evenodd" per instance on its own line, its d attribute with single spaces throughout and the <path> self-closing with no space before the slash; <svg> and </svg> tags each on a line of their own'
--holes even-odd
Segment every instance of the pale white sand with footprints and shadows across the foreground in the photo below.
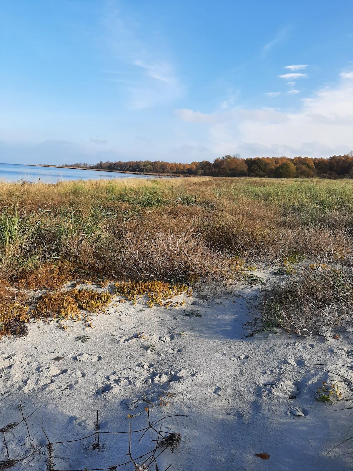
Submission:
<svg viewBox="0 0 353 471">
<path fill-rule="evenodd" d="M 269 272 L 256 273 L 269 277 Z M 21 419 L 22 404 L 26 415 L 41 406 L 28 419 L 37 446 L 46 443 L 41 427 L 51 441 L 94 433 L 97 410 L 101 431 L 128 430 L 129 422 L 132 430 L 142 429 L 148 419 L 140 399 L 148 398 L 153 421 L 188 415 L 156 426 L 181 433 L 181 446 L 158 458 L 160 471 L 170 463 L 175 471 L 351 470 L 353 458 L 347 453 L 353 441 L 326 453 L 349 436 L 353 416 L 337 411 L 345 401 L 335 406 L 314 399 L 328 374 L 309 365 L 347 365 L 331 368 L 352 376 L 353 330 L 330 341 L 268 332 L 246 337 L 251 326 L 245 324 L 257 322 L 259 292 L 259 285 L 223 292 L 204 286 L 172 309 L 133 307 L 115 298 L 107 315 L 94 317 L 94 329 L 83 330 L 79 322 L 68 323 L 66 331 L 55 323 L 30 324 L 27 337 L 0 342 L 0 428 Z M 91 340 L 75 341 L 83 334 Z M 147 345 L 155 351 L 147 351 Z M 160 396 L 170 403 L 160 406 Z M 352 399 L 350 392 L 347 398 Z M 128 414 L 137 415 L 128 419 Z M 1 435 L 0 460 L 5 460 Z M 31 453 L 24 423 L 5 436 L 11 458 Z M 140 436 L 132 437 L 133 456 L 155 445 L 150 442 L 155 434 L 147 432 L 138 444 Z M 101 450 L 91 451 L 93 442 L 94 437 L 54 445 L 56 469 L 128 461 L 128 435 L 101 434 Z M 263 452 L 270 455 L 266 461 L 255 456 Z M 47 463 L 42 448 L 11 469 L 44 471 Z"/>
</svg>

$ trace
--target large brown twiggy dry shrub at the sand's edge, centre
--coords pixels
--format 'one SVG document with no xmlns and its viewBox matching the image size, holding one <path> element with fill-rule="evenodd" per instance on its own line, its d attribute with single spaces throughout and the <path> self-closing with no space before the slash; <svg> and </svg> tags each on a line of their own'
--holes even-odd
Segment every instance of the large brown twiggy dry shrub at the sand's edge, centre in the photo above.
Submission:
<svg viewBox="0 0 353 471">
<path fill-rule="evenodd" d="M 219 279 L 232 274 L 232 259 L 206 246 L 188 221 L 163 215 L 130 221 L 119 252 L 121 276 L 137 279 Z"/>
</svg>

